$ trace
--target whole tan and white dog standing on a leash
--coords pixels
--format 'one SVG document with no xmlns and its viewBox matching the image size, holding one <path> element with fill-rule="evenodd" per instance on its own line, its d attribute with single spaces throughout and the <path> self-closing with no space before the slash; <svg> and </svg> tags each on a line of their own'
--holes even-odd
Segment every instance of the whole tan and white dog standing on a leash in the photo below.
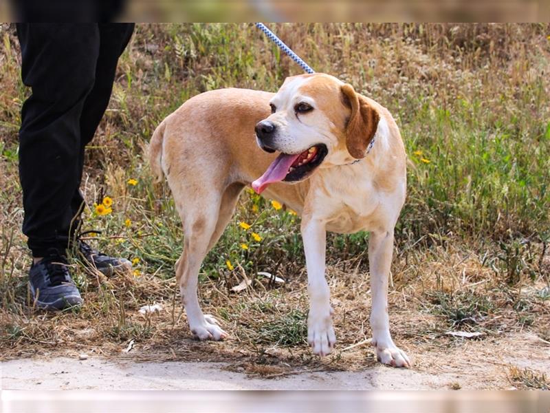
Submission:
<svg viewBox="0 0 550 413">
<path fill-rule="evenodd" d="M 187 100 L 163 120 L 151 139 L 149 158 L 153 173 L 166 176 L 183 222 L 184 251 L 176 277 L 194 335 L 201 340 L 227 336 L 201 311 L 198 273 L 239 194 L 252 184 L 256 192 L 302 216 L 307 338 L 313 352 L 329 354 L 336 343 L 325 280 L 326 231 L 370 231 L 373 345 L 382 363 L 409 366 L 393 343 L 388 319 L 388 276 L 393 231 L 405 200 L 406 155 L 387 109 L 327 74 L 289 77 L 276 94 L 214 90 Z"/>
</svg>

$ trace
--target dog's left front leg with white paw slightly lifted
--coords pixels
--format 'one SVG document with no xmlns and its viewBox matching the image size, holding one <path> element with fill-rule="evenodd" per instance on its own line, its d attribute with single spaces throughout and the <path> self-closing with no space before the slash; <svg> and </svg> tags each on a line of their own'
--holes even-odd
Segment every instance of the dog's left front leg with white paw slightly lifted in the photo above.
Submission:
<svg viewBox="0 0 550 413">
<path fill-rule="evenodd" d="M 325 247 L 327 231 L 325 223 L 304 217 L 302 221 L 307 266 L 307 290 L 309 292 L 309 315 L 307 317 L 307 341 L 314 354 L 321 357 L 330 354 L 336 343 L 332 326 L 329 284 L 325 279 Z"/>
</svg>

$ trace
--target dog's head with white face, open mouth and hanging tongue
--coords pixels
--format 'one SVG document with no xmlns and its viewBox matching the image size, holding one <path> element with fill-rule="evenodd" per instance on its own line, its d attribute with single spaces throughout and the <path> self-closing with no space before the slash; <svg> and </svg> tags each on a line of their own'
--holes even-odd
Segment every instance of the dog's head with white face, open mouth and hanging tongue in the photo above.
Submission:
<svg viewBox="0 0 550 413">
<path fill-rule="evenodd" d="M 380 115 L 351 85 L 328 74 L 285 80 L 270 101 L 272 114 L 256 125 L 256 141 L 281 152 L 252 187 L 297 182 L 322 167 L 343 165 L 366 155 Z"/>
</svg>

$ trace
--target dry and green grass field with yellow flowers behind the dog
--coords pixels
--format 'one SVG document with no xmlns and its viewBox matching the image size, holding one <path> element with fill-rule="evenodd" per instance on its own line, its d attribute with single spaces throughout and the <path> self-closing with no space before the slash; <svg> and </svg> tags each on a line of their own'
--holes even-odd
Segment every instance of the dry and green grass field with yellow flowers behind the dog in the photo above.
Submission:
<svg viewBox="0 0 550 413">
<path fill-rule="evenodd" d="M 392 267 L 395 341 L 414 348 L 436 337 L 434 348 L 459 346 L 441 334 L 451 327 L 549 337 L 550 26 L 273 28 L 315 70 L 388 107 L 401 128 L 409 165 Z M 17 131 L 30 91 L 21 83 L 14 28 L 0 25 L 0 39 L 0 358 L 52 351 L 58 343 L 113 355 L 135 339 L 142 350 L 169 357 L 196 358 L 215 348 L 221 359 L 267 352 L 311 363 L 300 218 L 243 193 L 200 273 L 205 312 L 223 320 L 233 339 L 192 341 L 173 279 L 181 223 L 166 184 L 153 183 L 143 152 L 158 123 L 191 96 L 218 87 L 276 91 L 300 68 L 252 25 L 137 25 L 86 151 L 83 191 L 90 205 L 85 229 L 102 231 L 89 242 L 139 261 L 135 273 L 104 279 L 74 258 L 86 305 L 52 315 L 33 308 L 26 286 Z M 113 200 L 112 213 L 98 215 L 92 204 L 104 195 Z M 368 234 L 330 234 L 327 241 L 327 278 L 344 348 L 370 335 Z M 286 282 L 270 283 L 259 271 Z M 252 285 L 234 293 L 244 276 Z M 153 303 L 164 311 L 137 313 Z M 340 362 L 363 365 L 369 351 L 355 348 Z"/>
</svg>

